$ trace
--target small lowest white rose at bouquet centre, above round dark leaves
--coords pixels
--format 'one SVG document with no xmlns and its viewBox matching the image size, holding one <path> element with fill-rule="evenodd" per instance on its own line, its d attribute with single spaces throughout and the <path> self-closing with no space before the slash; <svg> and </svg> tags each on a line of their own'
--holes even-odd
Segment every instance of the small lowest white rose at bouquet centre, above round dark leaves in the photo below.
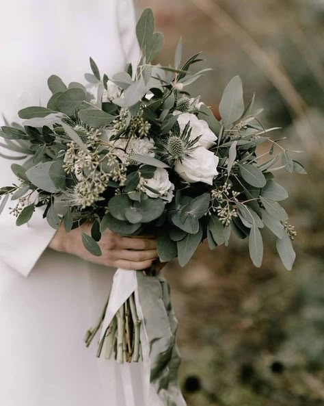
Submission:
<svg viewBox="0 0 324 406">
<path fill-rule="evenodd" d="M 152 188 L 156 193 L 145 186 Z M 167 170 L 156 168 L 153 177 L 150 179 L 141 178 L 139 190 L 145 192 L 149 197 L 161 197 L 161 199 L 170 203 L 173 198 L 174 184 L 170 182 Z"/>
</svg>

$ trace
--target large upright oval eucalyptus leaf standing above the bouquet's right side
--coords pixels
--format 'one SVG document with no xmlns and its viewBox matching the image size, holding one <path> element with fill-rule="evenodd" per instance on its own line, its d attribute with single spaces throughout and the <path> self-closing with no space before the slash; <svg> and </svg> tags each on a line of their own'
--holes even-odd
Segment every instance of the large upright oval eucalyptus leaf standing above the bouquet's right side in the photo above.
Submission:
<svg viewBox="0 0 324 406">
<path fill-rule="evenodd" d="M 239 120 L 244 112 L 243 86 L 239 76 L 235 76 L 226 86 L 221 102 L 219 114 L 225 127 Z"/>
</svg>

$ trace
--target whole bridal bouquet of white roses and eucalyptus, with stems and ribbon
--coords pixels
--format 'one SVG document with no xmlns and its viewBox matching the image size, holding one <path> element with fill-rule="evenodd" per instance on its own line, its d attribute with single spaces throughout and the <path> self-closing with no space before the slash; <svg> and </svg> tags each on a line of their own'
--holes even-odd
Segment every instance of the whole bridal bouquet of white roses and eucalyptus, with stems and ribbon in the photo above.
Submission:
<svg viewBox="0 0 324 406">
<path fill-rule="evenodd" d="M 278 203 L 288 194 L 273 173 L 305 173 L 303 166 L 267 136 L 275 128 L 262 127 L 254 97 L 244 104 L 239 77 L 224 90 L 218 121 L 187 91 L 208 71 L 191 71 L 199 53 L 181 64 L 179 42 L 174 66 L 152 64 L 163 35 L 154 32 L 150 9 L 137 23 L 137 38 L 135 68 L 128 64 L 113 77 L 102 76 L 90 58 L 85 86 L 66 86 L 53 75 L 46 107 L 24 108 L 18 112 L 22 125 L 2 127 L 3 145 L 22 154 L 10 159 L 25 162 L 12 164 L 19 182 L 0 189 L 1 210 L 11 199 L 18 226 L 36 207 L 44 207 L 55 229 L 63 222 L 68 232 L 90 221 L 91 235 L 80 232 L 93 255 L 101 255 L 98 241 L 107 228 L 123 236 L 149 234 L 157 238 L 160 261 L 178 258 L 180 266 L 205 239 L 216 249 L 228 245 L 231 234 L 248 238 L 252 262 L 261 266 L 260 230 L 267 228 L 291 269 L 295 230 Z M 144 360 L 150 404 L 185 405 L 177 383 L 176 326 L 163 277 L 154 269 L 119 269 L 85 342 L 101 331 L 98 356 Z"/>
</svg>

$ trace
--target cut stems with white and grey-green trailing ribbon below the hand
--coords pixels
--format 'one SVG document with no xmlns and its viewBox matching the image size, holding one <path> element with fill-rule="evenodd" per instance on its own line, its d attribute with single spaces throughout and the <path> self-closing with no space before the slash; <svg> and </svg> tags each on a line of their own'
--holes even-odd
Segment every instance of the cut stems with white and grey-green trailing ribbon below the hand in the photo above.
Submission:
<svg viewBox="0 0 324 406">
<path fill-rule="evenodd" d="M 101 329 L 98 357 L 114 358 L 120 364 L 142 361 L 143 406 L 185 406 L 178 385 L 177 326 L 167 281 L 154 270 L 144 275 L 119 268 L 103 314 L 87 331 L 85 342 L 89 345 Z M 129 375 L 122 377 L 125 388 L 131 386 L 128 379 Z"/>
</svg>

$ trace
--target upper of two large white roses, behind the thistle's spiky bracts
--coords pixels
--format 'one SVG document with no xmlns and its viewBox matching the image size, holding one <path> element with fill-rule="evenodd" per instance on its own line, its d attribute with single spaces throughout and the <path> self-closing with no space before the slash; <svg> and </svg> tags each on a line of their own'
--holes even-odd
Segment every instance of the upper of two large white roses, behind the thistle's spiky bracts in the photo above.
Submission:
<svg viewBox="0 0 324 406">
<path fill-rule="evenodd" d="M 178 114 L 178 112 L 174 113 Z M 191 127 L 190 138 L 193 139 L 201 136 L 200 140 L 198 141 L 198 145 L 200 147 L 205 147 L 207 149 L 213 147 L 215 141 L 217 140 L 217 136 L 215 136 L 213 131 L 211 131 L 211 129 L 208 127 L 206 121 L 199 120 L 198 117 L 195 116 L 195 114 L 191 113 L 183 113 L 178 116 L 178 123 L 181 131 L 185 129 L 185 126 L 188 122 L 190 122 Z"/>
</svg>

